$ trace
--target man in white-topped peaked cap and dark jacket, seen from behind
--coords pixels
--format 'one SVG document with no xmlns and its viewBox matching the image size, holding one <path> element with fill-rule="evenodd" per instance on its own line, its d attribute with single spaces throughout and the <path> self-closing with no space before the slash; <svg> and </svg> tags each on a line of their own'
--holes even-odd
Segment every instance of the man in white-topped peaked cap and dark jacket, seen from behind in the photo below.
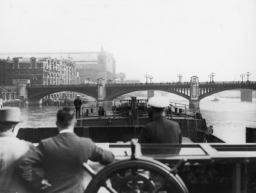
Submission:
<svg viewBox="0 0 256 193">
<path fill-rule="evenodd" d="M 152 97 L 148 100 L 151 105 L 153 121 L 141 130 L 139 143 L 181 143 L 180 125 L 166 118 L 166 107 L 170 102 L 165 97 Z"/>
</svg>

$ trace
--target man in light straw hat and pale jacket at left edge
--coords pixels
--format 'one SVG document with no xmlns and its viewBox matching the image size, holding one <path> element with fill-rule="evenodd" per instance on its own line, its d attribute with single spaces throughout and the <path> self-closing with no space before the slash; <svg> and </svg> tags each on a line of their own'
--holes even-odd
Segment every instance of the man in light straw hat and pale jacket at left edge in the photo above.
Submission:
<svg viewBox="0 0 256 193">
<path fill-rule="evenodd" d="M 28 193 L 15 167 L 17 159 L 23 156 L 33 144 L 16 138 L 20 109 L 4 107 L 0 109 L 0 193 Z"/>
</svg>

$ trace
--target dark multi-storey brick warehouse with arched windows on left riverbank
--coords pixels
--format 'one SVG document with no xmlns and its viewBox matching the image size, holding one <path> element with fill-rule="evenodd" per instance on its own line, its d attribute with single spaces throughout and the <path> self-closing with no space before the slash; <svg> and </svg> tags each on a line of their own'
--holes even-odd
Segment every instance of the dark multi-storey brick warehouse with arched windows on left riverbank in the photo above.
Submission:
<svg viewBox="0 0 256 193">
<path fill-rule="evenodd" d="M 23 58 L 0 59 L 0 85 L 12 86 L 15 80 L 27 80 L 31 85 L 75 84 L 73 58 Z M 17 93 L 18 94 L 18 93 Z M 73 92 L 49 96 L 52 99 L 73 97 Z"/>
</svg>

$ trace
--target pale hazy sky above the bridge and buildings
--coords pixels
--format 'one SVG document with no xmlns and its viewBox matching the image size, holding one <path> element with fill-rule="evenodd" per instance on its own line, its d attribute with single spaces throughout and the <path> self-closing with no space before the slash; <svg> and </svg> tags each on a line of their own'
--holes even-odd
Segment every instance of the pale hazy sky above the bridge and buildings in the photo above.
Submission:
<svg viewBox="0 0 256 193">
<path fill-rule="evenodd" d="M 153 82 L 256 81 L 256 0 L 0 0 L 0 52 L 113 52 Z M 1 55 L 0 55 L 1 58 Z M 247 77 L 245 78 L 247 80 Z"/>
</svg>

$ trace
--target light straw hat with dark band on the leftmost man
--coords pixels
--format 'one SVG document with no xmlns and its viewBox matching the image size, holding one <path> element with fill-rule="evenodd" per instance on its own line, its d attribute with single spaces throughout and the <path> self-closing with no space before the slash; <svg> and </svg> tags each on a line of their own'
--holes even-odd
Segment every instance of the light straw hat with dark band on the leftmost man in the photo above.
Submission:
<svg viewBox="0 0 256 193">
<path fill-rule="evenodd" d="M 20 108 L 18 107 L 3 107 L 0 109 L 0 123 L 19 123 Z"/>
</svg>

